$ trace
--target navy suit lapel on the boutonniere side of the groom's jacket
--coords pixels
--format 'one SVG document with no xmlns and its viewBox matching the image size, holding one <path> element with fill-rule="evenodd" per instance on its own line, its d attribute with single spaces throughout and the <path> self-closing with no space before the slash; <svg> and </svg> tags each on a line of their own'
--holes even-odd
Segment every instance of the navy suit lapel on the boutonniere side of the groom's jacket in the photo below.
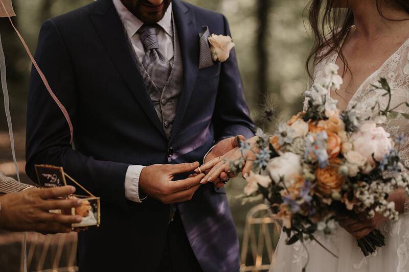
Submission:
<svg viewBox="0 0 409 272">
<path fill-rule="evenodd" d="M 175 119 L 169 143 L 172 142 L 180 128 L 185 112 L 189 106 L 193 87 L 198 72 L 199 34 L 196 31 L 193 11 L 180 0 L 173 0 L 173 15 L 179 36 L 180 51 L 183 59 L 184 84 L 181 91 L 179 105 L 177 106 Z"/>
</svg>

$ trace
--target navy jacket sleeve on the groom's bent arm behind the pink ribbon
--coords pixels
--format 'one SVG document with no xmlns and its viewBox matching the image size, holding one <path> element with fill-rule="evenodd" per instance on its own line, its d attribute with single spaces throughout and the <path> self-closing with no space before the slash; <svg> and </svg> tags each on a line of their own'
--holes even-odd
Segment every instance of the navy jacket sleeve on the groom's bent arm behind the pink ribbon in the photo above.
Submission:
<svg viewBox="0 0 409 272">
<path fill-rule="evenodd" d="M 52 20 L 47 20 L 41 27 L 35 59 L 56 96 L 69 112 L 75 135 L 76 120 L 80 118 L 78 90 L 63 37 Z M 124 181 L 129 165 L 85 156 L 72 148 L 70 138 L 63 114 L 33 68 L 27 109 L 28 176 L 36 180 L 35 164 L 62 166 L 67 174 L 86 189 L 100 196 L 102 202 L 126 209 Z"/>
</svg>

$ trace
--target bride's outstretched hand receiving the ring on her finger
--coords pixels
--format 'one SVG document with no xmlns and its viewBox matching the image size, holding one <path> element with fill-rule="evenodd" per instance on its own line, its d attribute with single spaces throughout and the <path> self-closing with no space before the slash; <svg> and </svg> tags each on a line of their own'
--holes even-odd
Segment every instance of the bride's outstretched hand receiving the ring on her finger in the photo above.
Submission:
<svg viewBox="0 0 409 272">
<path fill-rule="evenodd" d="M 256 136 L 248 140 L 250 146 L 253 149 L 254 149 L 256 141 L 257 141 Z M 210 171 L 207 173 L 205 178 L 203 178 L 201 180 L 201 183 L 205 184 L 205 183 L 208 183 L 208 182 L 215 182 L 218 179 L 226 180 L 226 179 L 232 178 L 232 175 L 230 175 L 229 177 L 227 177 L 227 175 L 226 175 L 226 173 L 230 172 L 229 171 L 230 170 L 229 169 L 229 163 L 231 161 L 239 160 L 240 158 L 242 158 L 242 156 L 245 159 L 245 164 L 243 165 L 243 168 L 242 168 L 242 176 L 243 176 L 244 179 L 246 179 L 250 175 L 250 172 L 251 172 L 252 166 L 253 166 L 253 161 L 256 158 L 256 155 L 255 155 L 255 153 L 253 151 L 248 150 L 243 155 L 243 154 L 241 154 L 241 151 L 240 151 L 239 147 L 236 147 L 235 149 L 231 150 L 230 152 L 224 154 L 223 156 L 215 158 L 215 159 L 201 165 L 200 170 L 202 172 L 206 172 L 206 171 L 208 171 L 210 169 Z M 219 183 L 217 183 L 217 187 L 221 187 L 219 185 Z"/>
</svg>

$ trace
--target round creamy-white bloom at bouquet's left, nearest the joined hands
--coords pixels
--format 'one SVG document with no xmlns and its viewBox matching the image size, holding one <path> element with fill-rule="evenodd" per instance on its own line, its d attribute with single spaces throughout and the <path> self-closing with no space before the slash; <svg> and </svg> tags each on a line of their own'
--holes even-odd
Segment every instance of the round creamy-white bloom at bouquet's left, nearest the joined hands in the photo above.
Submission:
<svg viewBox="0 0 409 272">
<path fill-rule="evenodd" d="M 293 183 L 294 176 L 301 175 L 303 168 L 301 166 L 301 157 L 291 152 L 286 152 L 280 157 L 271 159 L 267 166 L 270 176 L 274 182 L 280 182 L 284 178 L 287 187 Z"/>
</svg>

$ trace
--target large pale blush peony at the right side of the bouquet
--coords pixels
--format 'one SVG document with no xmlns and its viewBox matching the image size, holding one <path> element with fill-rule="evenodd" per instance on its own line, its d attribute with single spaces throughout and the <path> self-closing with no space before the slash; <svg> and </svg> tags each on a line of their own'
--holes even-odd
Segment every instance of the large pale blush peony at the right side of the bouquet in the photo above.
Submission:
<svg viewBox="0 0 409 272">
<path fill-rule="evenodd" d="M 392 149 L 391 135 L 382 127 L 376 127 L 374 121 L 363 122 L 358 132 L 352 135 L 354 150 L 367 159 L 371 166 L 380 161 Z"/>
</svg>

